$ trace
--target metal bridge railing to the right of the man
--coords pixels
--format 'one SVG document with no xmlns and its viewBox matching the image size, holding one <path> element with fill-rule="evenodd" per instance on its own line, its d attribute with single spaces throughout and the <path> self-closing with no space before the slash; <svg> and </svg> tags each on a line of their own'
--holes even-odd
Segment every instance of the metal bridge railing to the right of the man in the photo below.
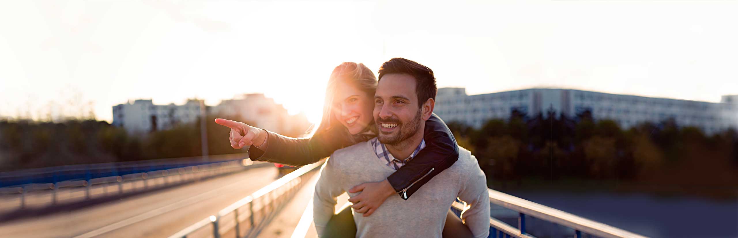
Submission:
<svg viewBox="0 0 738 238">
<path fill-rule="evenodd" d="M 489 189 L 489 203 L 518 212 L 517 228 L 512 225 L 508 225 L 503 221 L 497 220 L 494 217 L 490 217 L 489 237 L 536 238 L 525 232 L 525 217 L 530 216 L 572 228 L 574 230 L 575 238 L 582 238 L 583 235 L 587 234 L 590 235 L 589 237 L 602 238 L 647 238 L 630 231 L 625 231 L 611 225 L 605 225 L 593 220 L 588 220 L 584 217 L 552 209 L 548 206 L 543 206 L 541 204 L 492 189 Z M 459 212 L 466 209 L 466 204 L 459 203 L 457 201 L 452 204 L 451 209 L 455 210 L 457 214 L 459 214 Z"/>
</svg>

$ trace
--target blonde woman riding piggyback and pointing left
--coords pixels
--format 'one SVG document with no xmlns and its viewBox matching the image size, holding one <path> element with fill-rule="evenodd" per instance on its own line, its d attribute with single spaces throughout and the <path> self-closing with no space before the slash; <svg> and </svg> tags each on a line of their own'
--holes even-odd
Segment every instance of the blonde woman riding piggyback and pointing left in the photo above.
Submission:
<svg viewBox="0 0 738 238">
<path fill-rule="evenodd" d="M 239 149 L 249 145 L 249 158 L 279 164 L 306 165 L 328 157 L 335 150 L 376 137 L 373 119 L 374 91 L 377 80 L 373 72 L 362 63 L 345 62 L 337 66 L 328 80 L 323 105 L 323 120 L 309 139 L 294 139 L 251 127 L 241 122 L 215 119 L 221 125 L 231 127 L 230 143 Z M 401 165 L 386 180 L 362 183 L 349 192 L 361 192 L 351 197 L 352 208 L 369 216 L 384 203 L 387 197 L 397 193 L 407 200 L 430 178 L 450 167 L 458 159 L 458 147 L 446 124 L 433 114 L 424 130 L 426 147 L 407 164 Z M 335 224 L 353 223 L 350 209 L 334 217 Z M 458 217 L 450 214 L 447 228 L 458 228 Z M 332 222 L 333 220 L 331 220 Z M 453 223 L 453 224 L 449 224 Z M 329 223 L 330 225 L 330 223 Z M 337 234 L 340 225 L 334 225 Z M 463 226 L 463 225 L 462 225 Z M 470 234 L 468 228 L 463 226 Z M 330 230 L 330 229 L 329 229 Z M 355 228 L 354 228 L 355 232 Z M 457 231 L 463 233 L 463 231 Z M 446 231 L 444 230 L 444 234 Z M 456 233 L 458 235 L 458 233 Z"/>
</svg>

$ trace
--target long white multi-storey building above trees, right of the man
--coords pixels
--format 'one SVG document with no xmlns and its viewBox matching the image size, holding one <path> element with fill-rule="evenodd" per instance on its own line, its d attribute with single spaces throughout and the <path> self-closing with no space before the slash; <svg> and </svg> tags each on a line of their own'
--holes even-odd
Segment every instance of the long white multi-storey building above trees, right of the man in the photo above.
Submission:
<svg viewBox="0 0 738 238">
<path fill-rule="evenodd" d="M 528 116 L 554 111 L 568 117 L 590 111 L 593 119 L 613 119 L 623 128 L 672 118 L 677 125 L 699 127 L 706 134 L 738 128 L 738 95 L 699 102 L 559 88 L 477 95 L 467 95 L 465 88 L 439 88 L 434 112 L 446 122 L 479 128 L 489 119 L 509 118 L 514 110 Z"/>
</svg>

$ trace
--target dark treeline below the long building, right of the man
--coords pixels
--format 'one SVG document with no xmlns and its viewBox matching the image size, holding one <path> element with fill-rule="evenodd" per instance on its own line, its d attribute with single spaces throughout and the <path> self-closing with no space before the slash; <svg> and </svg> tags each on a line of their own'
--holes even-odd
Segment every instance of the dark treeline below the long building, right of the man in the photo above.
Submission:
<svg viewBox="0 0 738 238">
<path fill-rule="evenodd" d="M 673 119 L 621 128 L 553 112 L 528 116 L 514 111 L 475 130 L 449 122 L 462 147 L 472 150 L 490 183 L 523 181 L 620 181 L 680 190 L 738 188 L 738 133 L 706 136 Z M 500 186 L 498 184 L 497 186 Z"/>
</svg>

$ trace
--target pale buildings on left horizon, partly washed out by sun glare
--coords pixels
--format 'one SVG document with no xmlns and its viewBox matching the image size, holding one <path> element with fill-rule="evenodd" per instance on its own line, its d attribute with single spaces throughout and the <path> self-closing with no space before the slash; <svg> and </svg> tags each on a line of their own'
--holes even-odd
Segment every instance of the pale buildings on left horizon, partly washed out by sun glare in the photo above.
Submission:
<svg viewBox="0 0 738 238">
<path fill-rule="evenodd" d="M 131 134 L 168 130 L 175 125 L 196 122 L 201 115 L 200 105 L 198 99 L 188 99 L 184 105 L 154 105 L 151 99 L 137 99 L 113 106 L 112 125 L 123 127 Z M 244 94 L 216 106 L 205 106 L 204 110 L 210 116 L 241 119 L 277 133 L 300 134 L 309 126 L 303 113 L 289 115 L 282 105 L 263 94 Z"/>
</svg>

